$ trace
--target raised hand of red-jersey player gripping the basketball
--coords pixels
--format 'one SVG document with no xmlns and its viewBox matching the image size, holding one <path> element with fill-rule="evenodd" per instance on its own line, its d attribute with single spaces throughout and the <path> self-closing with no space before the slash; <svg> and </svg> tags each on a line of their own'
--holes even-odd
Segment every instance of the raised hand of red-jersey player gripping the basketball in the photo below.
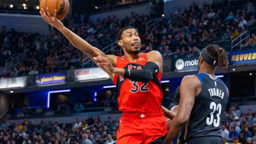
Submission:
<svg viewBox="0 0 256 144">
<path fill-rule="evenodd" d="M 41 11 L 39 11 L 39 13 L 47 23 L 49 23 L 51 26 L 55 27 L 56 29 L 59 30 L 63 26 L 62 22 L 57 18 L 57 9 L 55 9 L 53 17 L 51 16 L 51 13 L 48 7 L 46 7 L 46 13 L 43 8 L 41 8 Z"/>
</svg>

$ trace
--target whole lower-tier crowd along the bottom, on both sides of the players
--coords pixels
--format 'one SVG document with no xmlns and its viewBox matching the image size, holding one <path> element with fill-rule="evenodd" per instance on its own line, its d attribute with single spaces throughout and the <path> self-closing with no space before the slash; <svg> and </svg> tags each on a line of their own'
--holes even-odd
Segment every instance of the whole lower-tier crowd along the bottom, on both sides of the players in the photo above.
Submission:
<svg viewBox="0 0 256 144">
<path fill-rule="evenodd" d="M 235 105 L 224 113 L 221 123 L 224 144 L 256 143 L 256 113 L 252 114 L 250 109 L 242 114 Z M 76 118 L 68 124 L 46 123 L 44 119 L 40 124 L 27 119 L 23 123 L 6 120 L 0 126 L 0 143 L 108 144 L 116 140 L 118 127 L 118 121 L 108 117 L 103 123 L 97 115 L 94 120 L 88 115 L 86 120 Z"/>
</svg>

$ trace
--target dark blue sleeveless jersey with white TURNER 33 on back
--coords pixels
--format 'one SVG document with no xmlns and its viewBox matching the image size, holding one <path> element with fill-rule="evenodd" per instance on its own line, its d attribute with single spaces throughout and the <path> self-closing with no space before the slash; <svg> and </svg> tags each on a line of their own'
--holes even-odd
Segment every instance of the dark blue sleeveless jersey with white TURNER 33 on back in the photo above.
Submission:
<svg viewBox="0 0 256 144">
<path fill-rule="evenodd" d="M 185 126 L 184 139 L 221 136 L 221 120 L 228 102 L 227 87 L 220 78 L 205 73 L 196 74 L 202 90 L 195 98 L 190 118 Z"/>
</svg>

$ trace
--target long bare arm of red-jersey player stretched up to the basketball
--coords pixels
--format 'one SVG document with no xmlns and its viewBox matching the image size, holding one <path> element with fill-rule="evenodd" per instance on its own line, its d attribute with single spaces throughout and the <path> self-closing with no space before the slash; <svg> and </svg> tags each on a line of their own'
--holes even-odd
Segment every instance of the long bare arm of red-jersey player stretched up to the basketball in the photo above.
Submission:
<svg viewBox="0 0 256 144">
<path fill-rule="evenodd" d="M 104 57 L 109 57 L 109 60 L 111 64 L 114 66 L 115 65 L 115 60 L 116 56 L 114 55 L 106 55 L 103 52 L 101 52 L 99 49 L 96 47 L 93 47 L 90 45 L 88 42 L 84 41 L 82 38 L 80 38 L 78 35 L 67 29 L 58 18 L 57 16 L 57 10 L 54 12 L 54 17 L 51 16 L 49 8 L 46 7 L 46 13 L 44 9 L 42 8 L 40 11 L 40 14 L 42 18 L 49 23 L 51 26 L 55 27 L 58 29 L 69 41 L 70 43 L 75 46 L 77 49 L 81 50 L 84 54 L 88 55 L 96 64 L 99 63 L 100 61 L 97 61 L 93 59 L 93 57 L 96 57 L 98 55 L 104 56 Z M 107 72 L 110 77 L 112 78 L 113 74 L 110 74 L 103 66 L 98 65 L 101 69 L 103 69 L 105 72 Z"/>
</svg>

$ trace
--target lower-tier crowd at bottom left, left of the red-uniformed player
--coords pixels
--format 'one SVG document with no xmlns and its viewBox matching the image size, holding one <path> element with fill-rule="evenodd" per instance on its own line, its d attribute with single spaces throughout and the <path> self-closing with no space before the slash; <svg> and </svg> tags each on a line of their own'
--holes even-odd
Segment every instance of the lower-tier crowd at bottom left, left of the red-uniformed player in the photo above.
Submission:
<svg viewBox="0 0 256 144">
<path fill-rule="evenodd" d="M 116 140 L 118 120 L 100 120 L 98 115 L 92 115 L 80 121 L 67 124 L 45 122 L 35 124 L 24 119 L 22 123 L 7 120 L 0 126 L 1 144 L 108 144 Z"/>
</svg>

